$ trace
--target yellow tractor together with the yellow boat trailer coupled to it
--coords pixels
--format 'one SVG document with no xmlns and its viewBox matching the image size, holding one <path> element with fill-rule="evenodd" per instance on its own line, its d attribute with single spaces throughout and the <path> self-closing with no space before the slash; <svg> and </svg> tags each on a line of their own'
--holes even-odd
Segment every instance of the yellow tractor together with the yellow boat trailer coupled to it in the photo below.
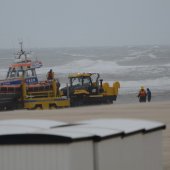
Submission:
<svg viewBox="0 0 170 170">
<path fill-rule="evenodd" d="M 69 75 L 70 85 L 59 90 L 57 82 L 51 80 L 49 88 L 42 85 L 22 83 L 19 103 L 25 109 L 57 109 L 70 106 L 113 103 L 117 99 L 120 83 L 109 86 L 98 73 L 76 73 Z M 40 87 L 39 87 L 40 86 Z M 38 88 L 39 87 L 39 88 Z M 38 89 L 38 90 L 37 90 Z"/>
</svg>

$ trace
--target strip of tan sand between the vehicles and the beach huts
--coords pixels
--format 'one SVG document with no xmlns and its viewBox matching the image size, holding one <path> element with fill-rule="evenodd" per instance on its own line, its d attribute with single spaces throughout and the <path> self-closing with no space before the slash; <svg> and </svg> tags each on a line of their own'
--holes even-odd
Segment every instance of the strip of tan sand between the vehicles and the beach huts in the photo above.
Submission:
<svg viewBox="0 0 170 170">
<path fill-rule="evenodd" d="M 162 158 L 163 170 L 170 170 L 170 101 L 151 103 L 121 103 L 111 105 L 83 106 L 57 110 L 15 110 L 0 112 L 3 119 L 49 119 L 66 122 L 98 118 L 137 118 L 160 121 L 166 124 L 163 131 Z"/>
</svg>

